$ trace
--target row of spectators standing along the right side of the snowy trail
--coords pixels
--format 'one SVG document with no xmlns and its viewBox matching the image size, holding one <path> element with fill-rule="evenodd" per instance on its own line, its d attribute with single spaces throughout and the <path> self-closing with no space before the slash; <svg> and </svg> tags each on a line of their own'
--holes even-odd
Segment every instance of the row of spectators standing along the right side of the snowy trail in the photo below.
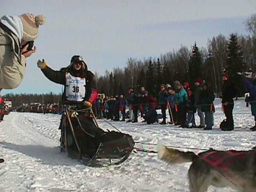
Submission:
<svg viewBox="0 0 256 192">
<path fill-rule="evenodd" d="M 246 102 L 251 104 L 252 115 L 256 122 L 256 73 L 252 78 L 243 78 L 244 86 L 250 92 L 250 98 Z M 234 98 L 238 90 L 228 74 L 222 75 L 222 110 L 225 120 L 221 122 L 221 130 L 234 130 L 233 109 Z M 215 95 L 211 85 L 201 78 L 194 81 L 194 85 L 188 82 L 180 83 L 178 80 L 171 84 L 161 84 L 158 99 L 152 96 L 144 86 L 139 93 L 134 88 L 128 89 L 128 95 L 105 96 L 100 94 L 93 104 L 97 118 L 106 118 L 113 121 L 125 121 L 136 123 L 138 117 L 148 124 L 173 124 L 182 128 L 202 128 L 211 130 L 214 126 L 214 99 Z M 156 109 L 161 109 L 157 114 Z M 166 110 L 170 121 L 166 122 Z M 200 124 L 196 125 L 195 115 L 199 116 Z M 122 118 L 120 118 L 120 115 Z M 162 119 L 158 122 L 158 119 Z M 256 130 L 256 124 L 250 128 Z"/>
</svg>

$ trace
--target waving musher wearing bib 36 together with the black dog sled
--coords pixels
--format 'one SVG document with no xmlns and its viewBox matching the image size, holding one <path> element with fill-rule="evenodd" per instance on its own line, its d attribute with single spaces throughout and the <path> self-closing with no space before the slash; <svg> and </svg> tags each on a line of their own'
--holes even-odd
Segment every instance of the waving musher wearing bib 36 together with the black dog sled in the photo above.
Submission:
<svg viewBox="0 0 256 192">
<path fill-rule="evenodd" d="M 70 65 L 60 71 L 52 70 L 44 60 L 38 67 L 52 82 L 64 85 L 60 145 L 68 151 L 76 151 L 90 158 L 122 158 L 123 162 L 133 149 L 132 137 L 121 132 L 105 132 L 98 127 L 91 110 L 98 92 L 94 74 L 87 69 L 82 56 L 73 56 Z M 66 138 L 66 139 L 65 139 Z M 99 152 L 100 151 L 100 152 Z"/>
</svg>

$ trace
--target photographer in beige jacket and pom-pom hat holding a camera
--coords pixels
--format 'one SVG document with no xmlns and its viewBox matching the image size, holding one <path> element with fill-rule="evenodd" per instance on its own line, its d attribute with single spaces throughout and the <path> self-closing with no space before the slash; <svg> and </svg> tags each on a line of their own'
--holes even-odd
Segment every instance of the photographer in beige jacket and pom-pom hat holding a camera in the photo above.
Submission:
<svg viewBox="0 0 256 192">
<path fill-rule="evenodd" d="M 34 40 L 42 15 L 4 15 L 0 18 L 0 90 L 16 88 L 25 75 L 26 58 L 36 52 Z"/>
</svg>

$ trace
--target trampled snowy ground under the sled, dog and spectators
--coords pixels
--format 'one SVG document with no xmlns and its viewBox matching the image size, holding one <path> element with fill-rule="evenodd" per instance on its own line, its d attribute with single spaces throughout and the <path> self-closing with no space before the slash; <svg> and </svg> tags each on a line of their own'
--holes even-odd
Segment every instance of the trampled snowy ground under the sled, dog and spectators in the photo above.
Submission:
<svg viewBox="0 0 256 192">
<path fill-rule="evenodd" d="M 224 119 L 220 99 L 215 102 L 213 130 L 182 129 L 170 125 L 147 125 L 142 122 L 112 122 L 135 141 L 190 148 L 248 150 L 256 146 L 256 132 L 250 108 L 243 98 L 235 101 L 231 132 L 220 131 Z M 158 112 L 160 113 L 160 112 Z M 196 122 L 198 124 L 198 116 Z M 169 121 L 169 120 L 167 120 Z M 153 153 L 132 153 L 119 166 L 88 167 L 60 153 L 58 125 L 60 115 L 11 112 L 0 123 L 1 192 L 184 192 L 191 163 L 169 166 Z M 101 128 L 110 124 L 98 120 Z M 138 148 L 156 150 L 156 146 L 136 144 Z M 186 151 L 187 149 L 181 149 Z M 193 150 L 198 153 L 201 150 Z M 209 192 L 230 192 L 230 188 L 210 187 Z"/>
</svg>

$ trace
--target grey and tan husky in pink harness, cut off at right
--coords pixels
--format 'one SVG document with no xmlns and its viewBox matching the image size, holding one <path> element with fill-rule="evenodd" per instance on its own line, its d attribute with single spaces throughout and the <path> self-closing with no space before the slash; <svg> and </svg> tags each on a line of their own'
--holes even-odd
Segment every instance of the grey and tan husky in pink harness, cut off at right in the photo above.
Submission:
<svg viewBox="0 0 256 192">
<path fill-rule="evenodd" d="M 168 164 L 192 162 L 188 170 L 190 192 L 206 192 L 210 185 L 238 192 L 256 192 L 256 149 L 207 150 L 199 154 L 158 146 L 158 158 Z"/>
</svg>

